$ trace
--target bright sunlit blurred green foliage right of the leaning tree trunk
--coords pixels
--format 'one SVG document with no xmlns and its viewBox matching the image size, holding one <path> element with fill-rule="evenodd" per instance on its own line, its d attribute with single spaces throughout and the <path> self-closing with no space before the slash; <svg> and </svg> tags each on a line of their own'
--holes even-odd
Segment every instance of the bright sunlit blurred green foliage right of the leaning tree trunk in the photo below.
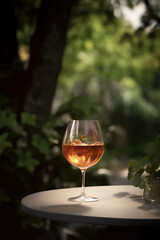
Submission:
<svg viewBox="0 0 160 240">
<path fill-rule="evenodd" d="M 93 77 L 104 81 L 131 77 L 143 87 L 150 86 L 153 74 L 159 72 L 159 32 L 152 41 L 146 32 L 134 34 L 121 18 L 111 21 L 93 11 L 79 17 L 78 10 L 71 19 L 59 86 L 71 87 Z"/>
</svg>

